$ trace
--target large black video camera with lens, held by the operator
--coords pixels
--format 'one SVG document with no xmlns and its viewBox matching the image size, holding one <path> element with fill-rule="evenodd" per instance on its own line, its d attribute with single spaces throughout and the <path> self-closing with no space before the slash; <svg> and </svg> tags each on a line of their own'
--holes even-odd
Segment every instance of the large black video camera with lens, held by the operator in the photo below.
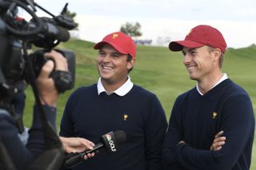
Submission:
<svg viewBox="0 0 256 170">
<path fill-rule="evenodd" d="M 39 18 L 37 8 L 52 18 Z M 18 16 L 20 10 L 29 14 L 29 22 Z M 36 78 L 48 60 L 44 53 L 70 39 L 68 30 L 73 30 L 75 23 L 66 11 L 67 3 L 61 14 L 54 16 L 33 0 L 0 0 L 0 99 L 17 93 L 17 81 L 25 79 L 30 83 L 31 77 Z M 42 49 L 29 54 L 31 45 Z M 66 57 L 69 72 L 53 71 L 50 77 L 58 92 L 63 93 L 74 87 L 75 56 L 72 51 L 58 52 Z"/>
</svg>

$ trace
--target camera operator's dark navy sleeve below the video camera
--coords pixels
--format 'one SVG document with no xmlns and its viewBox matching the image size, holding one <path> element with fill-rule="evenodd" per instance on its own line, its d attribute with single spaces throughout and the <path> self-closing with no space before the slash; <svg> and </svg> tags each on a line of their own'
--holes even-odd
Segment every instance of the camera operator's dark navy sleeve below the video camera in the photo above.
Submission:
<svg viewBox="0 0 256 170">
<path fill-rule="evenodd" d="M 46 117 L 51 125 L 55 128 L 56 109 L 47 105 L 44 105 L 43 109 L 45 109 Z M 39 114 L 37 107 L 34 107 L 33 124 L 29 131 L 28 143 L 25 146 L 18 137 L 18 128 L 15 125 L 14 118 L 6 110 L 0 109 L 1 142 L 17 169 L 26 169 L 37 158 L 38 154 L 46 149 Z"/>
</svg>

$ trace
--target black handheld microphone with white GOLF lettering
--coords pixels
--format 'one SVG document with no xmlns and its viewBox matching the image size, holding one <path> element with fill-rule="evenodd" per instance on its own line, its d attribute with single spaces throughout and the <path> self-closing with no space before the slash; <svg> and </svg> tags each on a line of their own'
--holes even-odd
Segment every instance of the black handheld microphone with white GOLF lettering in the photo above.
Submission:
<svg viewBox="0 0 256 170">
<path fill-rule="evenodd" d="M 66 168 L 73 168 L 74 166 L 81 164 L 84 161 L 84 156 L 88 153 L 96 152 L 100 148 L 106 148 L 107 152 L 117 152 L 119 145 L 126 140 L 126 132 L 118 130 L 116 132 L 108 132 L 102 136 L 102 143 L 96 144 L 93 149 L 86 150 L 84 152 L 71 152 L 66 156 L 64 160 L 64 166 Z"/>
</svg>

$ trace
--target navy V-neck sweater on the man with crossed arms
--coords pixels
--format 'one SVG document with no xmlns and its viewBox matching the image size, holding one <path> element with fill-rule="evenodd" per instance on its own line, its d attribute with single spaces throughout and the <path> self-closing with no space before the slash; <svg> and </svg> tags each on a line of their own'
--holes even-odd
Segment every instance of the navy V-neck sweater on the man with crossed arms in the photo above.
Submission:
<svg viewBox="0 0 256 170">
<path fill-rule="evenodd" d="M 183 93 L 175 101 L 166 133 L 165 169 L 249 169 L 254 124 L 250 97 L 230 79 L 203 96 L 196 88 Z M 226 144 L 219 151 L 210 151 L 221 130 Z M 186 144 L 178 144 L 180 140 Z"/>
</svg>

